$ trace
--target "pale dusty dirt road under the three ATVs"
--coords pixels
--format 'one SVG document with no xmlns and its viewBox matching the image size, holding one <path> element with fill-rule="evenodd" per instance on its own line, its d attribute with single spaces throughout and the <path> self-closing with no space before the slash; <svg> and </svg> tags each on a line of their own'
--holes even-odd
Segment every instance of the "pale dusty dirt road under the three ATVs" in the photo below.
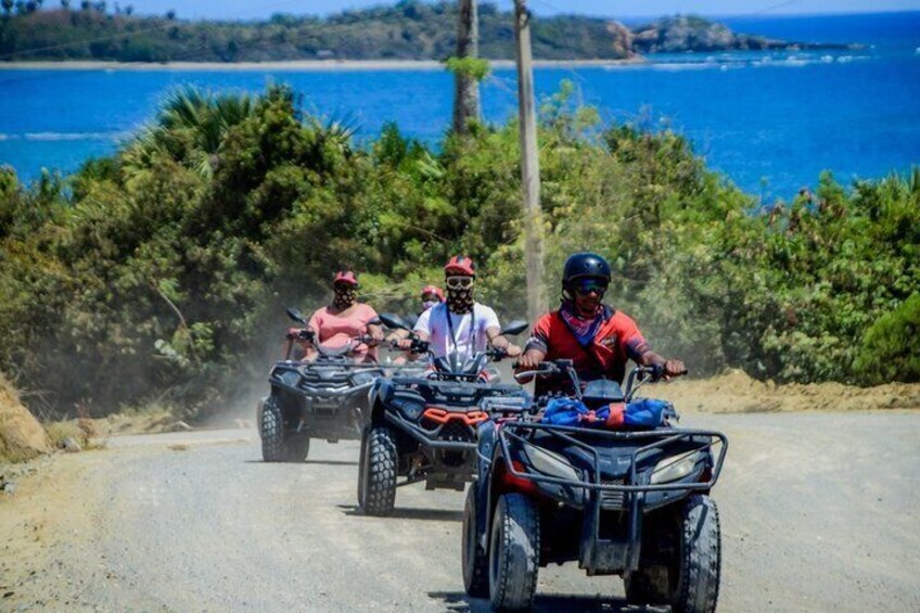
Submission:
<svg viewBox="0 0 920 613">
<path fill-rule="evenodd" d="M 920 412 L 685 414 L 731 440 L 721 611 L 920 611 Z M 357 443 L 260 461 L 251 431 L 120 437 L 0 502 L 0 610 L 486 611 L 462 494 L 356 513 Z M 12 593 L 10 593 L 12 592 Z M 5 595 L 5 596 L 3 596 Z M 621 611 L 617 577 L 540 571 L 537 611 Z"/>
</svg>

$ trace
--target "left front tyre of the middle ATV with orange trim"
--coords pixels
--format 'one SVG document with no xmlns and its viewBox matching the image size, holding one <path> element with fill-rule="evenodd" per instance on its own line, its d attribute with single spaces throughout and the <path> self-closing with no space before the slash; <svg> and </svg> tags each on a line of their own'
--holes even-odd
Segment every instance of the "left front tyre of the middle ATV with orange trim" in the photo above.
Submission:
<svg viewBox="0 0 920 613">
<path fill-rule="evenodd" d="M 362 447 L 358 501 L 368 515 L 388 515 L 396 500 L 396 436 L 386 426 L 373 427 Z"/>
</svg>

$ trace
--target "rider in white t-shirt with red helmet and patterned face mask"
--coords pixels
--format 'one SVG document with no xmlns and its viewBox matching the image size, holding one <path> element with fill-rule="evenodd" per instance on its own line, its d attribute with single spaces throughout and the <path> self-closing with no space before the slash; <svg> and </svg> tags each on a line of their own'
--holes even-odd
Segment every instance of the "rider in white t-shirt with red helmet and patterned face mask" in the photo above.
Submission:
<svg viewBox="0 0 920 613">
<path fill-rule="evenodd" d="M 453 256 L 444 267 L 447 299 L 419 317 L 413 332 L 420 341 L 431 343 L 435 357 L 457 356 L 463 360 L 489 347 L 504 349 L 509 357 L 521 355 L 521 347 L 501 335 L 495 311 L 473 301 L 476 267 L 465 256 Z M 409 339 L 399 342 L 411 346 Z"/>
</svg>

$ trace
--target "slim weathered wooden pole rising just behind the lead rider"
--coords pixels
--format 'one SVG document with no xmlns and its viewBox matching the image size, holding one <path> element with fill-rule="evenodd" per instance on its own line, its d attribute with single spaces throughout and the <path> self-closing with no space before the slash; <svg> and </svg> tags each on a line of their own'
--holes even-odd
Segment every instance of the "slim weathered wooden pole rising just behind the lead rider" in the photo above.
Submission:
<svg viewBox="0 0 920 613">
<path fill-rule="evenodd" d="M 531 55 L 531 13 L 526 0 L 514 0 L 518 41 L 518 118 L 521 135 L 521 187 L 524 195 L 524 261 L 527 271 L 527 318 L 546 311 L 542 284 L 544 242 L 540 215 L 540 163 L 537 155 L 537 114 L 534 108 L 534 66 Z"/>
</svg>

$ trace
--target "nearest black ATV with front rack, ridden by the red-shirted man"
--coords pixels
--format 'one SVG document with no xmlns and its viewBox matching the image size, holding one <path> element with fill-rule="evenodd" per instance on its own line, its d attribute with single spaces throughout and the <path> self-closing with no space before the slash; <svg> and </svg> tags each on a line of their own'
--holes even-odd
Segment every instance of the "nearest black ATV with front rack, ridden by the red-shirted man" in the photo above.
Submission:
<svg viewBox="0 0 920 613">
<path fill-rule="evenodd" d="M 567 373 L 577 398 L 598 409 L 631 401 L 662 370 L 634 369 L 625 394 L 612 381 L 592 381 L 583 394 L 570 360 L 519 376 L 550 373 Z M 577 561 L 588 575 L 621 575 L 630 603 L 714 611 L 721 537 L 710 490 L 725 435 L 672 425 L 669 405 L 662 425 L 631 431 L 552 425 L 535 417 L 540 405 L 480 427 L 478 477 L 463 514 L 467 593 L 526 610 L 539 566 Z"/>
</svg>

